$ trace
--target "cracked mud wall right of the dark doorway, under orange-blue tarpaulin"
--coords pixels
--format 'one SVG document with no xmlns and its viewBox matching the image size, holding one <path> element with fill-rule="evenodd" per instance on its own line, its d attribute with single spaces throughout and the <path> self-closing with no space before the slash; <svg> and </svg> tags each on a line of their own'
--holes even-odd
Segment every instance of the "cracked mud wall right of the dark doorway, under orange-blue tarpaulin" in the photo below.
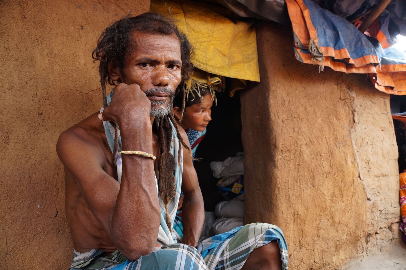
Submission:
<svg viewBox="0 0 406 270">
<path fill-rule="evenodd" d="M 246 223 L 283 229 L 289 268 L 338 269 L 398 238 L 389 95 L 302 64 L 291 30 L 257 26 L 261 83 L 241 93 Z"/>
</svg>

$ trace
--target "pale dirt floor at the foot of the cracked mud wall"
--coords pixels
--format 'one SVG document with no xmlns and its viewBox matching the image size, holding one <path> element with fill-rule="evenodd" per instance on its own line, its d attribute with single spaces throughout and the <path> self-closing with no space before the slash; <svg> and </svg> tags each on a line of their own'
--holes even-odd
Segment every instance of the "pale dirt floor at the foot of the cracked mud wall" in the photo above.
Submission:
<svg viewBox="0 0 406 270">
<path fill-rule="evenodd" d="M 361 261 L 350 261 L 341 270 L 403 270 L 406 269 L 406 245 L 401 242 L 396 243 L 378 253 L 370 253 Z"/>
</svg>

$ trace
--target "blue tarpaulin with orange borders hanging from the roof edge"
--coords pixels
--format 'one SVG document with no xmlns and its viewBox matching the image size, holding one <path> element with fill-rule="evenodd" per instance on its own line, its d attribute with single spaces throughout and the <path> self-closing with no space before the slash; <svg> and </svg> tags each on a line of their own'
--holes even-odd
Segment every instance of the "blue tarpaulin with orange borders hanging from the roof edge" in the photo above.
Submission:
<svg viewBox="0 0 406 270">
<path fill-rule="evenodd" d="M 294 52 L 303 63 L 345 73 L 365 73 L 388 94 L 406 94 L 406 54 L 361 33 L 345 18 L 311 0 L 285 0 L 292 22 Z"/>
</svg>

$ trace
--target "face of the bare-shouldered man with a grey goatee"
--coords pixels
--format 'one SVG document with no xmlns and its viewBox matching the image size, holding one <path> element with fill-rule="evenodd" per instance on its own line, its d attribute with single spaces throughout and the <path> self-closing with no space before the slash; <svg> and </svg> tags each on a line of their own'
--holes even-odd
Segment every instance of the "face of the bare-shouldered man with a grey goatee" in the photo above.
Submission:
<svg viewBox="0 0 406 270">
<path fill-rule="evenodd" d="M 125 84 L 138 84 L 151 101 L 151 116 L 162 117 L 171 109 L 175 90 L 181 82 L 179 39 L 175 33 L 135 31 L 130 46 L 133 49 L 126 58 L 120 79 Z"/>
</svg>

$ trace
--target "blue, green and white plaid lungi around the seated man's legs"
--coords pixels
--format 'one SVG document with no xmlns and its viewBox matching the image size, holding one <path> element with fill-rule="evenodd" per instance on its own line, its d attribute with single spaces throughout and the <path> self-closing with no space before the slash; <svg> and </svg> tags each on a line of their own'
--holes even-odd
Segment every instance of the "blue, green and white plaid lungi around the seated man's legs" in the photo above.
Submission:
<svg viewBox="0 0 406 270">
<path fill-rule="evenodd" d="M 267 223 L 252 223 L 219 234 L 199 243 L 197 249 L 186 244 L 162 246 L 136 261 L 125 259 L 119 251 L 110 256 L 92 249 L 74 251 L 71 270 L 231 270 L 241 269 L 250 253 L 276 241 L 281 252 L 282 269 L 287 270 L 288 253 L 283 232 Z"/>
</svg>

